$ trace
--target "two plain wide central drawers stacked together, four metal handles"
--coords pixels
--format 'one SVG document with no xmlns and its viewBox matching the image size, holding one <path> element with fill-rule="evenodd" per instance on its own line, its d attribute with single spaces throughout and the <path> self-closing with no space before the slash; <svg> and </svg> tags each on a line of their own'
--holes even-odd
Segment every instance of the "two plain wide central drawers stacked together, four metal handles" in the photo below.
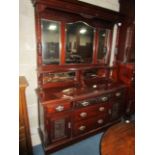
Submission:
<svg viewBox="0 0 155 155">
<path fill-rule="evenodd" d="M 73 134 L 78 135 L 103 126 L 108 121 L 108 102 L 75 110 Z"/>
</svg>

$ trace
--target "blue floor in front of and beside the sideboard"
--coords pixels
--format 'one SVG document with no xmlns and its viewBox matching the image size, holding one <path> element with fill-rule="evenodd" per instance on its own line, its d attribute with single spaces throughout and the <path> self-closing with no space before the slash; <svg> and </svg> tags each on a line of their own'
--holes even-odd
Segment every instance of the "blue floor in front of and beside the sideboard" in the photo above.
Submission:
<svg viewBox="0 0 155 155">
<path fill-rule="evenodd" d="M 50 155 L 100 155 L 100 139 L 103 133 L 87 138 Z M 34 155 L 44 155 L 41 145 L 33 147 Z"/>
</svg>

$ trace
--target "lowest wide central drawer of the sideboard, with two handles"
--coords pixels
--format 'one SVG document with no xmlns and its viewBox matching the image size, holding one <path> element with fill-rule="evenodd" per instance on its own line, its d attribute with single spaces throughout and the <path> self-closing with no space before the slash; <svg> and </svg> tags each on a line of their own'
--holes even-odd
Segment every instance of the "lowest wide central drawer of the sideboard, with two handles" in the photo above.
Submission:
<svg viewBox="0 0 155 155">
<path fill-rule="evenodd" d="M 73 128 L 73 134 L 79 135 L 91 131 L 93 129 L 97 129 L 106 124 L 107 118 L 104 116 L 98 116 L 95 118 L 88 119 L 86 121 L 81 121 L 79 123 L 75 123 Z"/>
</svg>

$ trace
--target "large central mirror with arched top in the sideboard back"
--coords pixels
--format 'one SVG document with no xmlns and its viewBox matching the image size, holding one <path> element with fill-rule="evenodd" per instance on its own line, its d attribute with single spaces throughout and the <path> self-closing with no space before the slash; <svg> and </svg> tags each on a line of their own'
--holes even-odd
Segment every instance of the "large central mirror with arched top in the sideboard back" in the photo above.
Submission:
<svg viewBox="0 0 155 155">
<path fill-rule="evenodd" d="M 66 25 L 66 63 L 92 63 L 94 28 L 84 22 Z"/>
</svg>

